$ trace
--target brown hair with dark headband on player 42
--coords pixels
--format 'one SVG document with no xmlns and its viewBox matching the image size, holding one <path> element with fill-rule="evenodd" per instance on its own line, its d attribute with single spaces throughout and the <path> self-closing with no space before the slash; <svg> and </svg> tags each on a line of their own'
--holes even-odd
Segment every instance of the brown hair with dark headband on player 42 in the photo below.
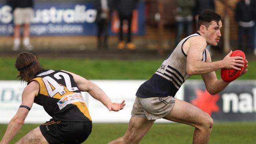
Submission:
<svg viewBox="0 0 256 144">
<path fill-rule="evenodd" d="M 30 52 L 21 52 L 19 54 L 16 59 L 15 68 L 20 72 L 17 78 L 26 82 L 31 81 L 38 72 L 43 70 L 35 55 Z"/>
</svg>

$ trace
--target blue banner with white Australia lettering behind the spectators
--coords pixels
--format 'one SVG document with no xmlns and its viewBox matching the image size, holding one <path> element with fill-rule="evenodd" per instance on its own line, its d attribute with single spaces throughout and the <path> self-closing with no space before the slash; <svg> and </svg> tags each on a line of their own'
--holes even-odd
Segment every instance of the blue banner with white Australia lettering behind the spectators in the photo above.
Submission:
<svg viewBox="0 0 256 144">
<path fill-rule="evenodd" d="M 96 35 L 96 9 L 93 0 L 35 0 L 30 26 L 32 36 Z M 0 35 L 13 34 L 13 15 L 10 0 L 0 0 Z M 109 33 L 119 31 L 117 13 L 112 13 Z M 145 6 L 139 1 L 133 17 L 134 35 L 145 34 Z M 124 31 L 127 26 L 124 25 Z"/>
</svg>

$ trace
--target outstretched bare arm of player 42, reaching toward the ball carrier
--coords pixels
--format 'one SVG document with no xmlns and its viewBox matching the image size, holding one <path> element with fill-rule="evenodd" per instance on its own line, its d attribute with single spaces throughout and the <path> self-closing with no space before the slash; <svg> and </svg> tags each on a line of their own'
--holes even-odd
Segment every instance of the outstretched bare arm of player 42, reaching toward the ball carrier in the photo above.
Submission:
<svg viewBox="0 0 256 144">
<path fill-rule="evenodd" d="M 67 71 L 65 71 L 67 72 Z M 87 79 L 83 78 L 82 76 L 79 76 L 77 74 L 74 74 L 72 72 L 69 72 L 72 74 L 74 81 L 76 82 L 78 89 L 80 91 L 87 91 L 89 94 L 95 98 L 96 100 L 102 102 L 109 111 L 120 111 L 124 108 L 125 101 L 122 101 L 121 103 L 113 103 L 109 99 L 109 97 L 105 94 L 105 92 L 100 89 L 95 83 L 88 81 Z"/>
</svg>

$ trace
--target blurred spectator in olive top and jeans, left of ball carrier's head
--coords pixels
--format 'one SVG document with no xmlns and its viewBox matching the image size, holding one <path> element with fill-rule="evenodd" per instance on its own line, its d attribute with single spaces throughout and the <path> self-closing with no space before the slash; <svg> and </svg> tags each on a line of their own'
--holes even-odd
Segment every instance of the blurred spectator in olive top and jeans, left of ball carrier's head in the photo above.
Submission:
<svg viewBox="0 0 256 144">
<path fill-rule="evenodd" d="M 181 40 L 183 35 L 184 27 L 186 28 L 186 36 L 192 34 L 193 31 L 193 8 L 195 7 L 195 0 L 177 0 L 176 10 L 176 24 L 177 24 L 177 35 L 175 46 Z"/>
</svg>

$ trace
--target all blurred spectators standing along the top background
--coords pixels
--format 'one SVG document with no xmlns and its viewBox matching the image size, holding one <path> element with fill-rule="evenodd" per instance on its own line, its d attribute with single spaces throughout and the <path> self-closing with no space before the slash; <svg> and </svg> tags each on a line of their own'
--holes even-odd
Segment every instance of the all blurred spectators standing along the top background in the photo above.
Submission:
<svg viewBox="0 0 256 144">
<path fill-rule="evenodd" d="M 30 43 L 30 22 L 33 15 L 33 0 L 9 0 L 13 7 L 14 33 L 13 50 L 32 50 Z M 150 0 L 145 0 L 145 2 Z M 174 47 L 178 42 L 195 33 L 197 18 L 206 9 L 215 10 L 217 0 L 173 0 L 176 3 L 175 23 L 176 39 Z M 221 0 L 220 0 L 221 1 Z M 134 10 L 138 6 L 138 0 L 94 0 L 97 11 L 97 48 L 108 49 L 108 35 L 111 19 L 114 14 L 119 18 L 119 41 L 116 45 L 118 50 L 135 50 L 136 45 L 132 41 L 132 20 Z M 238 27 L 238 43 L 240 50 L 248 54 L 256 55 L 256 0 L 238 0 L 234 9 L 235 19 Z M 21 28 L 22 27 L 22 28 Z M 124 27 L 127 31 L 124 31 Z M 23 30 L 21 42 L 20 31 Z M 124 37 L 126 36 L 126 37 Z M 211 46 L 208 46 L 209 51 Z"/>
</svg>

